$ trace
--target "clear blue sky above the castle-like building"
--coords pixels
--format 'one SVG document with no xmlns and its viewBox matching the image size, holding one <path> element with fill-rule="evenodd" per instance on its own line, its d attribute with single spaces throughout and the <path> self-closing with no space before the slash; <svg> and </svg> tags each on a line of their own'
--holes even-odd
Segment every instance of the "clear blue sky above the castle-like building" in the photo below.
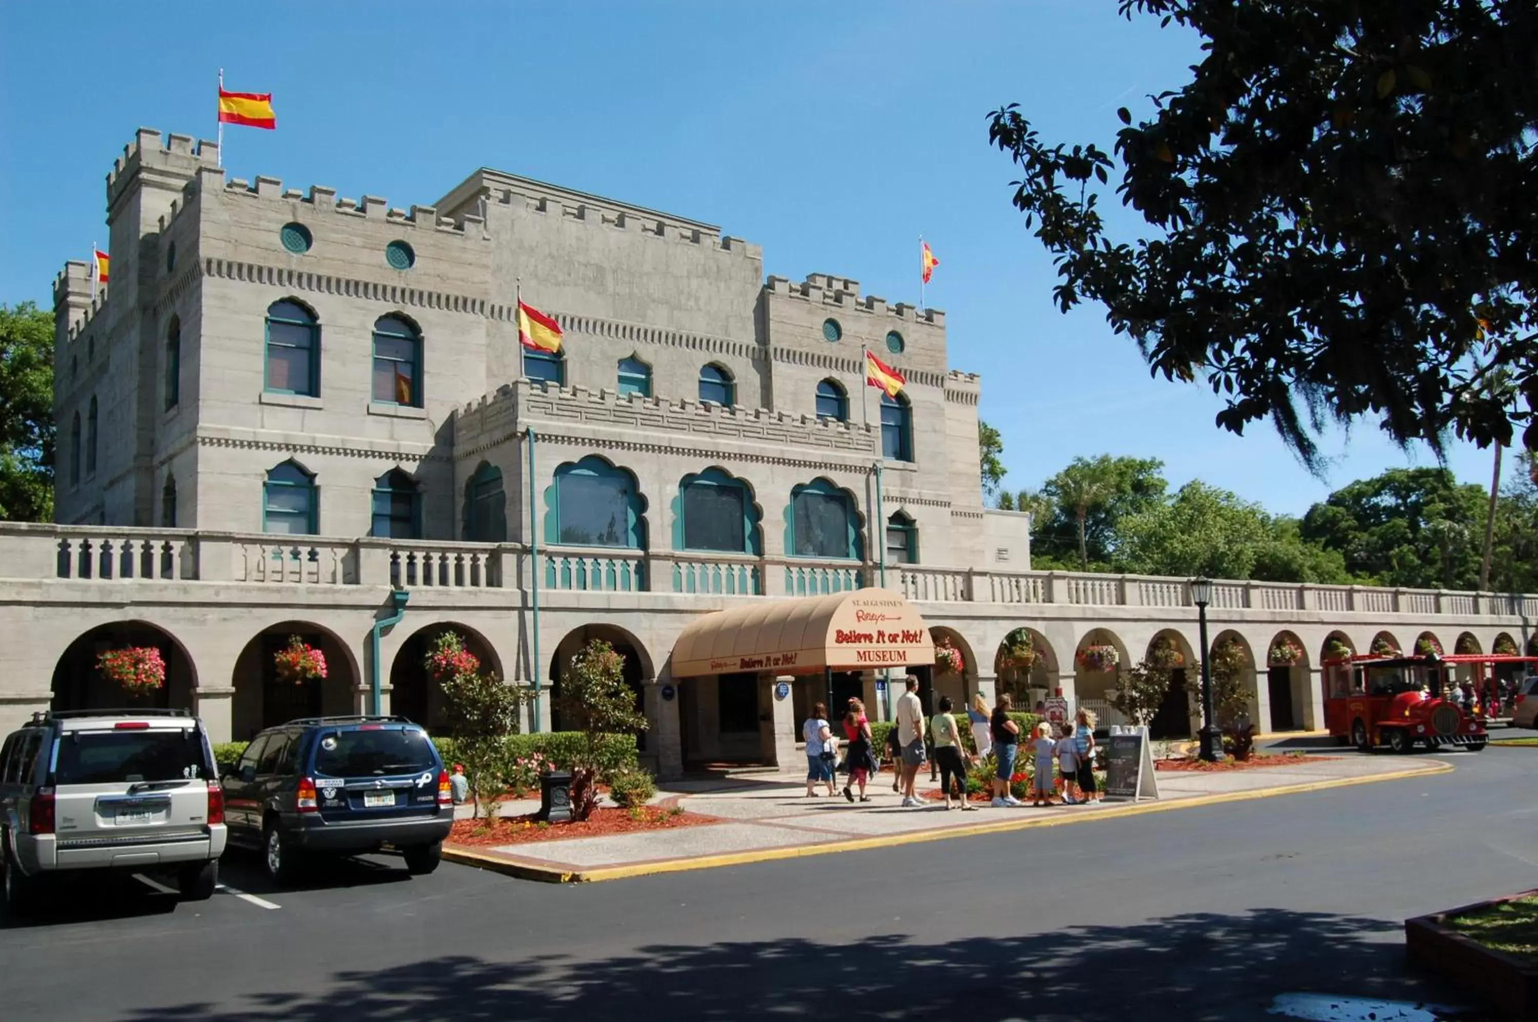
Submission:
<svg viewBox="0 0 1538 1022">
<path fill-rule="evenodd" d="M 212 137 L 223 66 L 278 114 L 275 132 L 226 132 L 231 177 L 409 206 L 494 166 L 718 223 L 763 244 L 767 274 L 889 301 L 917 301 L 923 234 L 929 304 L 950 364 L 984 377 L 1010 489 L 1112 452 L 1301 513 L 1435 463 L 1361 423 L 1326 440 L 1317 479 L 1269 426 L 1232 436 L 1210 392 L 1150 380 L 1098 310 L 1055 310 L 986 114 L 1018 101 L 1047 138 L 1109 148 L 1118 106 L 1184 83 L 1195 38 L 1129 25 L 1117 0 L 158 6 L 0 5 L 0 301 L 48 304 L 63 261 L 105 240 L 103 177 L 135 128 Z M 1489 463 L 1449 456 L 1481 484 Z"/>
</svg>

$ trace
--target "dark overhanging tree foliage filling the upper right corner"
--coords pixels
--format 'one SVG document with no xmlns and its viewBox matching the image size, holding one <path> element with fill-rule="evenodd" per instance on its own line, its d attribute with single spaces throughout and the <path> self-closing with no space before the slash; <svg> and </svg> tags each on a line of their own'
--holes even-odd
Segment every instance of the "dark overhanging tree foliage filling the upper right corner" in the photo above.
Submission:
<svg viewBox="0 0 1538 1022">
<path fill-rule="evenodd" d="M 1192 80 L 1114 157 L 1017 106 L 989 138 L 1057 258 L 1152 373 L 1206 378 L 1235 433 L 1269 418 L 1318 467 L 1329 418 L 1538 447 L 1538 6 L 1530 0 L 1120 0 L 1203 37 Z M 1115 241 L 1121 201 L 1150 232 Z M 1510 390 L 1486 380 L 1504 369 Z M 1300 407 L 1301 404 L 1301 407 Z"/>
</svg>

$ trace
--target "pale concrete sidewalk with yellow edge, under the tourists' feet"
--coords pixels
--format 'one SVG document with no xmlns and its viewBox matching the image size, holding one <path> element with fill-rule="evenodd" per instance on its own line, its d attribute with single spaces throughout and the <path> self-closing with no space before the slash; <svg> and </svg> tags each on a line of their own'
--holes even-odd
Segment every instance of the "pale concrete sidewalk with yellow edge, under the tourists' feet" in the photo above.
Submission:
<svg viewBox="0 0 1538 1022">
<path fill-rule="evenodd" d="M 1452 770 L 1430 756 L 1389 758 L 1346 753 L 1295 764 L 1224 773 L 1158 771 L 1158 801 L 1106 801 L 1050 808 L 947 811 L 943 802 L 901 808 L 892 775 L 878 775 L 871 802 L 843 796 L 806 798 L 804 773 L 763 773 L 671 782 L 658 799 L 677 798 L 717 824 L 604 838 L 569 838 L 491 848 L 454 848 L 443 858 L 548 882 L 606 881 L 647 873 L 738 865 L 803 854 L 881 848 L 894 844 L 1104 819 L 1212 802 L 1289 795 L 1349 784 L 1393 781 Z M 920 791 L 929 785 L 920 775 Z M 506 811 L 506 810 L 504 810 Z"/>
</svg>

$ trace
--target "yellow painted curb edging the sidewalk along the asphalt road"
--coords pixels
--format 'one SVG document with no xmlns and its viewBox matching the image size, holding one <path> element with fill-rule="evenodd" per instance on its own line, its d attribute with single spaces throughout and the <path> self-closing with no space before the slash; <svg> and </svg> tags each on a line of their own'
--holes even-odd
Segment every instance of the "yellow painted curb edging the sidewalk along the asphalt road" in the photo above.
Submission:
<svg viewBox="0 0 1538 1022">
<path fill-rule="evenodd" d="M 1227 791 L 1224 795 L 1198 795 L 1189 799 L 1173 799 L 1169 802 L 1132 802 L 1126 805 L 1106 804 L 1104 808 L 1072 813 L 1063 816 L 1047 816 L 1034 819 L 1014 819 L 997 824 L 974 824 L 970 827 L 947 827 L 943 830 L 920 830 L 906 835 L 886 835 L 881 838 L 851 838 L 846 841 L 826 841 L 815 845 L 791 845 L 784 848 L 755 848 L 752 851 L 727 851 L 723 854 L 706 854 L 692 859 L 664 859 L 660 862 L 637 862 L 634 865 L 603 865 L 591 870 L 560 870 L 554 867 L 532 865 L 528 862 L 509 862 L 506 859 L 481 854 L 443 845 L 443 858 L 449 862 L 474 865 L 492 870 L 506 876 L 524 881 L 540 881 L 544 884 L 598 884 L 601 881 L 623 881 L 632 876 L 652 876 L 657 873 L 687 873 L 689 870 L 714 870 L 723 865 L 751 865 L 754 862 L 777 862 L 780 859 L 800 859 L 814 854 L 834 854 L 837 851 L 874 851 L 897 845 L 914 845 L 927 841 L 944 841 L 947 838 L 975 838 L 981 835 L 1006 835 L 1032 827 L 1061 827 L 1067 824 L 1083 824 L 1095 819 L 1120 819 L 1123 816 L 1138 816 L 1143 813 L 1164 813 L 1178 808 L 1197 808 L 1200 805 L 1218 805 L 1221 802 L 1249 802 L 1278 795 L 1303 795 L 1306 791 L 1324 791 L 1329 788 L 1347 788 L 1358 784 L 1377 784 L 1380 781 L 1406 781 L 1409 778 L 1427 778 L 1438 773 L 1452 773 L 1449 762 L 1433 762 L 1415 770 L 1397 773 L 1380 773 L 1366 778 L 1338 778 L 1333 781 L 1310 781 L 1307 784 L 1289 784 L 1277 788 L 1257 788 L 1253 791 Z M 741 821 L 738 821 L 741 822 Z M 752 821 L 746 821 L 752 822 Z"/>
</svg>

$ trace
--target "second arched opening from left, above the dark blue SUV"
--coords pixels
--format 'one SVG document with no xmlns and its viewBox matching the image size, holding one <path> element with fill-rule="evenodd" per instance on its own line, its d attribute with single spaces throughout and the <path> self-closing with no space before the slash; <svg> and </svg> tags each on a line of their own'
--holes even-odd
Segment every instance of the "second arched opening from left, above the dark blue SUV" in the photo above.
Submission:
<svg viewBox="0 0 1538 1022">
<path fill-rule="evenodd" d="M 288 679 L 280 676 L 278 653 L 294 638 L 320 650 L 326 661 L 325 678 Z M 283 621 L 258 632 L 240 656 L 231 678 L 235 696 L 231 705 L 231 735 L 249 739 L 265 727 L 305 716 L 346 716 L 358 712 L 358 665 L 351 650 L 334 632 L 309 621 Z"/>
</svg>

